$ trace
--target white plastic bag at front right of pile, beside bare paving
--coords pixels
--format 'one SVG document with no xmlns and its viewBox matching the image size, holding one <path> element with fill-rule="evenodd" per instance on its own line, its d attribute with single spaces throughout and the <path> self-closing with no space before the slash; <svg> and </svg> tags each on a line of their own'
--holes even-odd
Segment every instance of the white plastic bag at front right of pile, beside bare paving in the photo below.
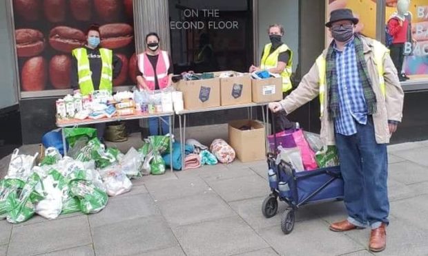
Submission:
<svg viewBox="0 0 428 256">
<path fill-rule="evenodd" d="M 110 196 L 126 193 L 133 186 L 126 174 L 121 171 L 120 165 L 110 165 L 101 169 L 99 174 L 104 181 L 104 186 L 106 186 L 106 192 Z"/>
</svg>

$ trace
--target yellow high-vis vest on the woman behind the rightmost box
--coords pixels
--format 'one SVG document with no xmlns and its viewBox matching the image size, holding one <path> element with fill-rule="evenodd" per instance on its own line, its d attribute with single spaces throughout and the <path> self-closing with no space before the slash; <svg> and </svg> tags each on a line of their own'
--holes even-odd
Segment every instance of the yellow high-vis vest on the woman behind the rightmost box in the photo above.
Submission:
<svg viewBox="0 0 428 256">
<path fill-rule="evenodd" d="M 287 92 L 292 88 L 290 76 L 292 71 L 292 65 L 293 65 L 293 51 L 285 44 L 280 45 L 275 51 L 273 51 L 271 54 L 271 47 L 272 44 L 268 43 L 264 46 L 263 56 L 262 56 L 262 63 L 260 65 L 260 68 L 262 70 L 269 70 L 271 68 L 277 67 L 278 65 L 278 56 L 280 56 L 281 52 L 290 51 L 290 59 L 289 62 L 286 63 L 285 69 L 281 72 L 282 76 L 282 92 Z"/>
</svg>

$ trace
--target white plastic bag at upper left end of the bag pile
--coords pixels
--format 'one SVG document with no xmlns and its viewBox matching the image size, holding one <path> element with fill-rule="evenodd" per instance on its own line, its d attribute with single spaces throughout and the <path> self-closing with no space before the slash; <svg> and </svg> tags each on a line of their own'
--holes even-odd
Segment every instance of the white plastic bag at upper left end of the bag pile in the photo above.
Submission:
<svg viewBox="0 0 428 256">
<path fill-rule="evenodd" d="M 35 165 L 37 156 L 39 156 L 39 153 L 35 153 L 35 156 L 19 155 L 19 149 L 14 149 L 5 179 L 26 181 L 31 174 L 32 167 Z"/>
</svg>

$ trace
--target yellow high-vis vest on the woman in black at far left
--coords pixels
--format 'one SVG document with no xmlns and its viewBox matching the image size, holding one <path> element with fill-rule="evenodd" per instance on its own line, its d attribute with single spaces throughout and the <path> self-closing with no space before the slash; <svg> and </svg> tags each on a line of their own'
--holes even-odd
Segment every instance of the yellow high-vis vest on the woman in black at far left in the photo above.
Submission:
<svg viewBox="0 0 428 256">
<path fill-rule="evenodd" d="M 101 55 L 101 78 L 99 89 L 106 89 L 113 92 L 113 51 L 99 48 Z M 81 95 L 88 95 L 94 92 L 92 81 L 92 71 L 90 71 L 88 52 L 86 48 L 80 47 L 72 50 L 72 55 L 77 59 L 77 74 L 79 76 L 79 88 Z"/>
</svg>

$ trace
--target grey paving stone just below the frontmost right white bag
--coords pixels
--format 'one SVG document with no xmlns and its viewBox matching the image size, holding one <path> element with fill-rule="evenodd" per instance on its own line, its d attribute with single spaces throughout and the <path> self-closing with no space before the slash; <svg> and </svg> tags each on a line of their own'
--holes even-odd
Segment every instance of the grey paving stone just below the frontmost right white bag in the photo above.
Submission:
<svg viewBox="0 0 428 256">
<path fill-rule="evenodd" d="M 106 208 L 97 214 L 88 215 L 90 226 L 95 228 L 124 220 L 134 220 L 150 215 L 159 215 L 159 209 L 148 193 L 124 198 L 110 198 Z"/>
</svg>

